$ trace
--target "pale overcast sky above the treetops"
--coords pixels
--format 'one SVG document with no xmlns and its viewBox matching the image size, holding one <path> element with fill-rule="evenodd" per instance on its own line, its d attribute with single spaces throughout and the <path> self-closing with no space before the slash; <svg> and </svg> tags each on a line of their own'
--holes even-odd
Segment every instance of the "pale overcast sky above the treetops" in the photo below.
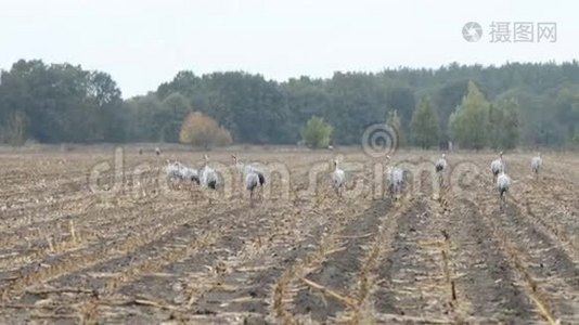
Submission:
<svg viewBox="0 0 579 325">
<path fill-rule="evenodd" d="M 556 3 L 555 3 L 556 2 Z M 335 70 L 502 64 L 579 56 L 576 1 L 114 1 L 0 2 L 0 68 L 18 58 L 110 73 L 124 98 L 179 70 L 245 70 L 285 80 Z M 466 22 L 483 26 L 467 42 Z M 492 22 L 530 22 L 535 41 L 491 42 Z M 556 23 L 556 42 L 537 23 Z M 513 25 L 511 26 L 513 29 Z"/>
</svg>

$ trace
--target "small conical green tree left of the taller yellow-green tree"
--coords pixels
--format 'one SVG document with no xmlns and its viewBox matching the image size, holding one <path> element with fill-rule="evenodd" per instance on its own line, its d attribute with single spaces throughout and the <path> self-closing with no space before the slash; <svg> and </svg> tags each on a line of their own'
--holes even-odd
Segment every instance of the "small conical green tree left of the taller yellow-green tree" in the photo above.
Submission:
<svg viewBox="0 0 579 325">
<path fill-rule="evenodd" d="M 414 145 L 429 148 L 438 144 L 438 116 L 430 98 L 422 98 L 412 114 L 410 130 Z"/>
</svg>

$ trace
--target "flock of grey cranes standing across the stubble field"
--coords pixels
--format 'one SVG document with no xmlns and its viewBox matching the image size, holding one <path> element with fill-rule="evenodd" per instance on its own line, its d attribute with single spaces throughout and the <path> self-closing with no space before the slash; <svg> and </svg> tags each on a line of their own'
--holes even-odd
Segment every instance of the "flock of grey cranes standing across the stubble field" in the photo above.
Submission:
<svg viewBox="0 0 579 325">
<path fill-rule="evenodd" d="M 140 152 L 142 153 L 142 152 Z M 160 150 L 155 150 L 156 155 L 160 155 Z M 250 164 L 243 164 L 237 159 L 236 155 L 232 155 L 233 166 L 241 172 L 244 180 L 245 190 L 249 191 L 249 199 L 254 198 L 254 192 L 256 188 L 266 184 L 265 173 L 259 167 Z M 386 156 L 389 161 L 390 157 Z M 536 178 L 539 177 L 539 171 L 543 165 L 541 153 L 537 153 L 537 156 L 531 158 L 531 170 Z M 448 162 L 446 155 L 441 157 L 435 164 L 435 171 L 438 176 L 440 185 L 443 182 L 443 172 L 448 170 Z M 503 152 L 499 153 L 499 158 L 494 159 L 490 164 L 490 170 L 492 171 L 493 179 L 499 192 L 500 208 L 503 209 L 506 202 L 506 194 L 511 186 L 511 178 L 506 174 L 506 164 L 503 160 Z M 167 178 L 171 183 L 175 182 L 191 182 L 207 190 L 217 190 L 219 183 L 219 177 L 217 172 L 209 167 L 209 157 L 204 155 L 204 166 L 201 169 L 189 167 L 180 161 L 167 160 L 165 167 Z M 397 197 L 402 191 L 402 186 L 406 181 L 407 171 L 400 167 L 389 166 L 386 171 L 386 180 L 389 185 L 390 194 Z M 346 186 L 346 172 L 339 168 L 338 160 L 334 160 L 334 169 L 330 174 L 332 180 L 332 186 L 334 187 L 338 197 L 343 196 L 344 187 Z"/>
</svg>

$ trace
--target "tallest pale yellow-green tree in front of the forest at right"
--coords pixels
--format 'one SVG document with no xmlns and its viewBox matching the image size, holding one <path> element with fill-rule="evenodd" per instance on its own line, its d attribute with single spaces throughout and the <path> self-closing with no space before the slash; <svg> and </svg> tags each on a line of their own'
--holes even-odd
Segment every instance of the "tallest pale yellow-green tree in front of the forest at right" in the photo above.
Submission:
<svg viewBox="0 0 579 325">
<path fill-rule="evenodd" d="M 461 147 L 481 150 L 487 144 L 488 122 L 489 103 L 476 84 L 471 81 L 461 105 L 450 116 L 451 138 Z"/>
</svg>

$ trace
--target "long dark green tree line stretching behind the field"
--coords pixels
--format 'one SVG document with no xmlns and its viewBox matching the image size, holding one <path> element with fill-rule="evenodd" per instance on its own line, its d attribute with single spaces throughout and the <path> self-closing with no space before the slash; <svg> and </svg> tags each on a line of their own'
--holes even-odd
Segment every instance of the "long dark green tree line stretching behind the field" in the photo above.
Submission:
<svg viewBox="0 0 579 325">
<path fill-rule="evenodd" d="M 296 144 L 316 133 L 306 129 L 316 117 L 310 125 L 331 127 L 322 132 L 330 144 L 360 144 L 368 126 L 388 120 L 401 145 L 579 145 L 579 63 L 450 64 L 283 82 L 183 70 L 125 101 L 108 74 L 67 63 L 21 60 L 0 76 L 4 143 L 196 143 L 183 128 L 195 130 L 191 121 L 201 122 L 200 115 L 215 121 L 211 132 L 220 136 L 204 143 Z"/>
</svg>

